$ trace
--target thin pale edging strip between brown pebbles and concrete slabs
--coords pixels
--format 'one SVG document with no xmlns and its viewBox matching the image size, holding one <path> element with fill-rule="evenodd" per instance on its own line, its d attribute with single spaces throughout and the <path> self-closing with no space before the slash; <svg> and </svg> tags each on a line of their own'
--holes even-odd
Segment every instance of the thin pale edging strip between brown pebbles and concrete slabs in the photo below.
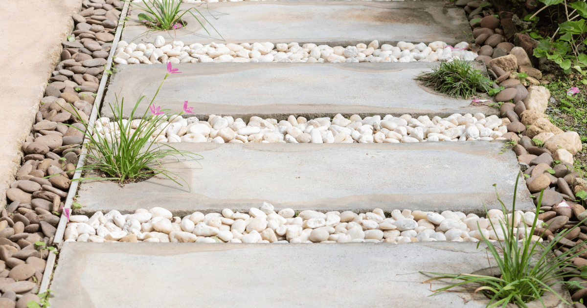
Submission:
<svg viewBox="0 0 587 308">
<path fill-rule="evenodd" d="M 113 46 L 118 44 L 118 41 L 120 40 L 120 36 L 122 35 L 122 29 L 124 28 L 124 18 L 126 17 L 126 13 L 128 12 L 128 9 L 129 9 L 129 2 L 124 2 L 124 7 L 122 9 L 122 12 L 120 13 L 119 23 L 116 27 L 116 36 L 114 36 L 114 40 L 112 41 Z M 72 26 L 72 28 L 73 28 L 73 26 Z M 106 62 L 106 68 L 104 69 L 104 71 L 112 68 L 112 57 L 114 56 L 114 52 L 116 52 L 116 49 L 111 48 L 110 55 L 108 56 L 108 59 Z M 107 83 L 108 77 L 109 77 L 108 73 L 102 74 L 102 80 L 100 80 L 100 87 L 98 88 L 98 92 L 96 93 L 96 99 L 94 101 L 94 106 L 92 108 L 92 114 L 90 114 L 89 125 L 86 128 L 87 131 L 90 131 L 90 132 L 93 131 L 94 126 L 92 123 L 94 123 L 94 121 L 96 121 L 98 110 L 100 109 L 100 106 L 102 104 L 102 97 L 103 97 L 104 89 L 106 89 L 106 83 Z M 87 148 L 84 147 L 85 141 L 86 140 L 84 139 L 84 143 L 82 144 L 82 153 L 79 155 L 79 160 L 77 161 L 76 168 L 80 168 L 85 164 L 86 154 L 87 154 Z M 75 174 L 73 175 L 73 180 L 80 178 L 81 175 L 82 175 L 82 171 L 77 170 L 75 172 Z M 72 184 L 69 187 L 69 191 L 68 191 L 68 198 L 65 200 L 65 208 L 66 209 L 71 209 L 72 204 L 73 204 L 73 197 L 75 196 L 78 185 L 79 185 L 79 181 L 72 181 Z M 58 247 L 62 243 L 63 233 L 65 232 L 66 225 L 67 225 L 67 218 L 65 218 L 65 215 L 61 215 L 59 218 L 59 225 L 57 227 L 55 237 L 53 238 L 53 243 L 57 244 Z M 53 272 L 53 265 L 55 265 L 55 260 L 56 260 L 56 254 L 49 253 L 49 256 L 47 258 L 47 263 L 45 266 L 46 273 Z M 39 293 L 46 292 L 46 290 L 49 287 L 49 283 L 50 283 L 52 277 L 53 277 L 53 275 L 43 275 L 43 280 L 41 281 L 41 286 L 39 286 Z"/>
</svg>

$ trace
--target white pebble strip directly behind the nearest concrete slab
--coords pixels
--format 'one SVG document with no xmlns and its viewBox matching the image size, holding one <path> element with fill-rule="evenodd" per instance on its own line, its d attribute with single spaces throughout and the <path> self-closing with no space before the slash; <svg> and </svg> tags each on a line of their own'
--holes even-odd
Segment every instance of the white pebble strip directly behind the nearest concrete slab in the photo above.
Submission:
<svg viewBox="0 0 587 308">
<path fill-rule="evenodd" d="M 533 212 L 516 211 L 514 215 L 498 209 L 488 211 L 488 218 L 463 212 L 400 211 L 394 209 L 386 218 L 382 209 L 355 212 L 302 211 L 297 216 L 291 208 L 275 211 L 264 202 L 248 213 L 224 209 L 222 213 L 204 215 L 194 212 L 184 218 L 173 216 L 164 208 L 137 209 L 122 215 L 110 211 L 96 212 L 91 218 L 73 215 L 65 229 L 66 242 L 196 242 L 196 243 L 347 243 L 347 242 L 478 242 L 483 234 L 491 241 L 503 241 L 500 227 L 507 219 L 514 224 L 518 239 L 530 236 Z M 512 219 L 513 216 L 513 219 Z M 492 228 L 492 225 L 494 228 Z M 537 226 L 543 222 L 538 221 Z M 136 235 L 134 238 L 133 235 Z M 532 240 L 542 241 L 532 235 Z"/>
</svg>

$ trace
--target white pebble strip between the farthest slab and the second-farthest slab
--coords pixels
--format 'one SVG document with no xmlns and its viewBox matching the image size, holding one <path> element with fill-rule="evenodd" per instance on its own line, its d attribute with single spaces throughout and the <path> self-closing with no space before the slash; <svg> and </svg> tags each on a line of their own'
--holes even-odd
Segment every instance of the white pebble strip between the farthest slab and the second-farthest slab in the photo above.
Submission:
<svg viewBox="0 0 587 308">
<path fill-rule="evenodd" d="M 429 45 L 398 42 L 396 46 L 383 44 L 377 40 L 356 46 L 316 45 L 306 43 L 241 43 L 202 45 L 194 43 L 189 46 L 176 40 L 166 42 L 163 36 L 157 36 L 153 43 L 127 43 L 124 40 L 116 45 L 114 63 L 116 64 L 153 64 L 153 63 L 219 63 L 219 62 L 308 62 L 308 63 L 343 63 L 343 62 L 436 62 L 453 59 L 475 60 L 477 52 L 467 50 L 469 44 L 461 42 L 454 49 L 444 42 Z M 464 50 L 457 50 L 464 49 Z"/>
</svg>

